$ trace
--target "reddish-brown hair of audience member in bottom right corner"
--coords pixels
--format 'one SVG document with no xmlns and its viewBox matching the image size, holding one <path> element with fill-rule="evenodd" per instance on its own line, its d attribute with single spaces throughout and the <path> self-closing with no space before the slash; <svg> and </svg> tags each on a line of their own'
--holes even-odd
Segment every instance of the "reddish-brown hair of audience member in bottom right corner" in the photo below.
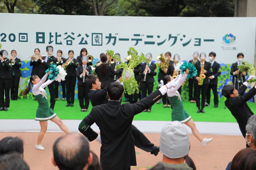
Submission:
<svg viewBox="0 0 256 170">
<path fill-rule="evenodd" d="M 256 169 L 256 150 L 245 148 L 240 150 L 233 158 L 231 170 Z"/>
</svg>

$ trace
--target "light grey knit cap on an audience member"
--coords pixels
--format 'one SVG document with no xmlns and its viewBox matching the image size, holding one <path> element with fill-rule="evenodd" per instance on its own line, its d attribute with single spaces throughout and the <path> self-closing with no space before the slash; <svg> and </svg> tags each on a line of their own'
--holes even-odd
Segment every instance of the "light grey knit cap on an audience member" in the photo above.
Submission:
<svg viewBox="0 0 256 170">
<path fill-rule="evenodd" d="M 165 157 L 185 157 L 189 151 L 188 130 L 178 121 L 166 124 L 161 131 L 159 147 Z"/>
</svg>

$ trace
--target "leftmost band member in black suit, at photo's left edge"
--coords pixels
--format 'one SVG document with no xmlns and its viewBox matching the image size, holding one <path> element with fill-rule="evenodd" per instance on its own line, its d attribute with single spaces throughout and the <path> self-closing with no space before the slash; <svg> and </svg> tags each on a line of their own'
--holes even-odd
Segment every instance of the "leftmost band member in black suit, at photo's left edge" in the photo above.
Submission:
<svg viewBox="0 0 256 170">
<path fill-rule="evenodd" d="M 10 86 L 11 86 L 11 74 L 12 64 L 7 59 L 8 52 L 6 50 L 0 51 L 0 111 L 8 111 L 7 107 L 10 106 Z M 4 101 L 5 94 L 5 101 Z"/>
</svg>

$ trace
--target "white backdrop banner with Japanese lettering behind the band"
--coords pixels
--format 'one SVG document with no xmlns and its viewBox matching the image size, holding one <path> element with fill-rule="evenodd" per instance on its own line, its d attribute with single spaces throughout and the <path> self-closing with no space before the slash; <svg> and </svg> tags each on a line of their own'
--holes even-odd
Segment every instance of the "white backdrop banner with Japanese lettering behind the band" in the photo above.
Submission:
<svg viewBox="0 0 256 170">
<path fill-rule="evenodd" d="M 46 46 L 75 56 L 81 48 L 99 58 L 106 50 L 114 50 L 124 59 L 129 47 L 139 54 L 150 52 L 153 60 L 170 51 L 181 60 L 192 59 L 194 51 L 217 54 L 217 62 L 231 64 L 239 52 L 254 63 L 255 17 L 127 17 L 71 16 L 0 13 L 2 49 L 17 51 L 21 60 L 39 48 L 45 55 Z M 227 36 L 227 38 L 225 37 Z M 224 37 L 224 38 L 223 38 Z M 108 43 L 108 41 L 110 42 Z M 174 43 L 174 41 L 176 42 Z M 86 43 L 85 43 L 86 41 Z M 115 41 L 115 42 L 114 42 Z M 72 45 L 67 45 L 71 44 Z M 138 44 L 136 44 L 138 42 Z M 62 43 L 62 44 L 60 44 Z M 80 43 L 80 44 L 79 44 Z M 136 45 L 135 45 L 136 44 Z"/>
</svg>

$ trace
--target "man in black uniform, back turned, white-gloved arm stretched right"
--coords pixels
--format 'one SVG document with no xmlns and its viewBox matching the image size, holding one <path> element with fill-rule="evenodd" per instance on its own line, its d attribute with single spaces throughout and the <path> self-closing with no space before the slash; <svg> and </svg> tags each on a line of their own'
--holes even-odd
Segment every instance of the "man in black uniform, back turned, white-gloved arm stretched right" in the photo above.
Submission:
<svg viewBox="0 0 256 170">
<path fill-rule="evenodd" d="M 89 141 L 93 141 L 98 134 L 90 126 L 96 123 L 101 133 L 101 165 L 103 170 L 129 170 L 136 166 L 136 155 L 131 132 L 133 117 L 145 108 L 152 106 L 159 97 L 167 92 L 167 88 L 176 86 L 172 81 L 159 90 L 139 100 L 137 103 L 124 103 L 124 88 L 119 82 L 108 85 L 107 91 L 110 98 L 108 104 L 94 106 L 88 116 L 79 124 L 79 131 Z"/>
</svg>

